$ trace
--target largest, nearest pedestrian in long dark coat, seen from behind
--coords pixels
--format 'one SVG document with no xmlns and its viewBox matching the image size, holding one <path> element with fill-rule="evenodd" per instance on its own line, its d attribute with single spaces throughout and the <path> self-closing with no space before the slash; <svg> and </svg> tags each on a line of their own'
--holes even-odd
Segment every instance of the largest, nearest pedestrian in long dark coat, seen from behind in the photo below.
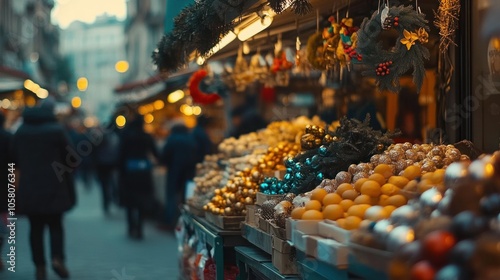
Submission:
<svg viewBox="0 0 500 280">
<path fill-rule="evenodd" d="M 30 245 L 36 279 L 46 279 L 44 228 L 50 230 L 52 268 L 62 278 L 69 276 L 64 265 L 63 213 L 75 205 L 71 176 L 70 140 L 54 115 L 50 101 L 26 108 L 24 123 L 16 131 L 12 152 L 20 171 L 16 210 L 28 216 Z M 17 213 L 16 213 L 17 214 Z"/>
</svg>

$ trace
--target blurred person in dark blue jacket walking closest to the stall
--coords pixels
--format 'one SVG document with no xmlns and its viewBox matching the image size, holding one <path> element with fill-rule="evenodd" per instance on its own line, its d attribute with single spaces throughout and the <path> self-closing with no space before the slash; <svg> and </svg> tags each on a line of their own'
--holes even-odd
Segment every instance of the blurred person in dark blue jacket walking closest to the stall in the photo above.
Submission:
<svg viewBox="0 0 500 280">
<path fill-rule="evenodd" d="M 185 125 L 172 127 L 161 160 L 167 166 L 164 226 L 172 230 L 180 215 L 179 206 L 185 202 L 186 183 L 193 179 L 196 166 L 196 141 Z"/>
</svg>

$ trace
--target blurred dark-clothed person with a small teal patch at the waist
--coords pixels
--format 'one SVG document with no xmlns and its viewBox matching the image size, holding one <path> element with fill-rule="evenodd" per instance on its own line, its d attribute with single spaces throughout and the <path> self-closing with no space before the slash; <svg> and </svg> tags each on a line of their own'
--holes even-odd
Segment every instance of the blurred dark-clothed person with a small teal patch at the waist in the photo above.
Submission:
<svg viewBox="0 0 500 280">
<path fill-rule="evenodd" d="M 143 238 L 144 212 L 154 202 L 151 156 L 159 156 L 143 125 L 143 118 L 135 116 L 120 134 L 120 203 L 126 208 L 128 234 L 134 239 Z"/>
</svg>

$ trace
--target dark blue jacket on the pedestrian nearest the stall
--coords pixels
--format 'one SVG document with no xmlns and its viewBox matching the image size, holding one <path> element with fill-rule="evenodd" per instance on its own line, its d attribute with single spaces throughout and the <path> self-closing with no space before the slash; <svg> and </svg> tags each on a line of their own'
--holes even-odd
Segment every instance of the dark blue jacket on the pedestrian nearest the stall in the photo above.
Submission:
<svg viewBox="0 0 500 280">
<path fill-rule="evenodd" d="M 167 166 L 167 188 L 183 191 L 187 180 L 194 177 L 196 165 L 196 141 L 187 127 L 172 127 L 161 159 Z"/>
</svg>

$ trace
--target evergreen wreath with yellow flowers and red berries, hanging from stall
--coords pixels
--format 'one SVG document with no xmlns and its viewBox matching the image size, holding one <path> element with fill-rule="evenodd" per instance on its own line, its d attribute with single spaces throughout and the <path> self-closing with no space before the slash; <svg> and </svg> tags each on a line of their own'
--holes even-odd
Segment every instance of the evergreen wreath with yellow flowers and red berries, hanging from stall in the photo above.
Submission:
<svg viewBox="0 0 500 280">
<path fill-rule="evenodd" d="M 378 40 L 381 31 L 390 28 L 399 36 L 396 45 L 386 50 Z M 420 92 L 425 76 L 424 59 L 430 56 L 424 46 L 429 40 L 428 32 L 425 15 L 412 6 L 386 7 L 382 12 L 376 11 L 371 19 L 365 18 L 358 31 L 357 50 L 371 69 L 363 75 L 374 77 L 380 90 L 399 92 L 399 78 L 413 68 L 413 82 Z"/>
</svg>

